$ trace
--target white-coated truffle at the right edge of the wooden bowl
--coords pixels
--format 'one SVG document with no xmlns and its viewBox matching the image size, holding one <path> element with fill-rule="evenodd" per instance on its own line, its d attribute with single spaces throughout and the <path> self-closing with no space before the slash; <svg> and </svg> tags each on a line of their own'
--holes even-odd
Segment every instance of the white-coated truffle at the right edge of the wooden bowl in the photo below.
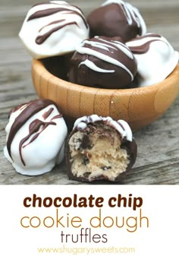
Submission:
<svg viewBox="0 0 179 256">
<path fill-rule="evenodd" d="M 137 59 L 140 87 L 163 81 L 178 63 L 179 53 L 163 36 L 146 33 L 126 43 Z"/>
</svg>

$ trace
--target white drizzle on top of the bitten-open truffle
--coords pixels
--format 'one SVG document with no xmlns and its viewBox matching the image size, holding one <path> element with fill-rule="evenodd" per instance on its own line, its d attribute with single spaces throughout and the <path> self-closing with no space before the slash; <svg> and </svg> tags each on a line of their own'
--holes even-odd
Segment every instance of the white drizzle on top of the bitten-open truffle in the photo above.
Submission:
<svg viewBox="0 0 179 256">
<path fill-rule="evenodd" d="M 80 119 L 77 119 L 74 123 L 74 128 L 77 128 L 78 130 L 83 130 L 86 128 L 87 124 L 89 122 L 98 122 L 103 121 L 106 122 L 109 126 L 115 128 L 119 134 L 121 134 L 122 138 L 125 138 L 127 141 L 133 141 L 133 134 L 130 129 L 130 126 L 125 122 L 124 120 L 118 120 L 115 121 L 111 119 L 111 117 L 102 117 L 99 115 L 89 115 L 89 116 L 83 116 Z"/>
</svg>

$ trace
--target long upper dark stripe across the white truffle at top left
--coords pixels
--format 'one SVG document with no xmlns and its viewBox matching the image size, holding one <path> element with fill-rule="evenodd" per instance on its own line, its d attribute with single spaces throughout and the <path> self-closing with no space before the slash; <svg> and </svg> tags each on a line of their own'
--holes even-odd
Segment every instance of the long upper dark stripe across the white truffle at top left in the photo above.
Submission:
<svg viewBox="0 0 179 256">
<path fill-rule="evenodd" d="M 46 17 L 46 16 L 49 16 L 49 15 L 52 15 L 52 14 L 55 14 L 59 11 L 70 11 L 70 14 L 77 14 L 78 16 L 80 16 L 86 26 L 86 28 L 88 28 L 88 25 L 86 24 L 86 20 L 85 18 L 83 17 L 82 14 L 80 14 L 78 11 L 74 11 L 74 10 L 71 10 L 69 8 L 49 8 L 49 9 L 46 9 L 46 10 L 42 10 L 42 11 L 36 11 L 34 14 L 30 15 L 30 17 L 28 18 L 27 21 L 32 21 L 33 19 L 37 19 L 39 17 Z"/>
</svg>

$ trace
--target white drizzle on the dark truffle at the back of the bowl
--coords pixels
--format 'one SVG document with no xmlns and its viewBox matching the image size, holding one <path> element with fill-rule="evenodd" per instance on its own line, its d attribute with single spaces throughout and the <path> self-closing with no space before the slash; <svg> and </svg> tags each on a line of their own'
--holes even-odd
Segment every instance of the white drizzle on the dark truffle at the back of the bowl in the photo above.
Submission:
<svg viewBox="0 0 179 256">
<path fill-rule="evenodd" d="M 145 21 L 143 20 L 143 17 L 141 16 L 140 11 L 137 8 L 133 7 L 133 5 L 130 5 L 130 3 L 121 0 L 107 0 L 102 4 L 102 6 L 111 4 L 121 5 L 124 11 L 124 16 L 127 19 L 127 24 L 131 25 L 133 24 L 133 21 L 135 21 L 137 27 L 141 28 L 141 35 L 146 33 Z"/>
</svg>

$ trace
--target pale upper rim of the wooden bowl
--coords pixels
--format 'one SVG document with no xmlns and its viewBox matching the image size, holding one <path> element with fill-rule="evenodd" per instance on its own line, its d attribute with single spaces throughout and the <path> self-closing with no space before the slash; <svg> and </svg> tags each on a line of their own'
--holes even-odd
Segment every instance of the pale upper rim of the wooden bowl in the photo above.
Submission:
<svg viewBox="0 0 179 256">
<path fill-rule="evenodd" d="M 174 83 L 174 80 L 177 81 L 177 79 L 179 79 L 179 63 L 178 63 L 174 68 L 174 70 L 171 72 L 171 74 L 169 74 L 168 77 L 165 78 L 165 80 L 159 83 L 151 84 L 146 87 L 134 87 L 134 88 L 127 88 L 127 89 L 105 89 L 105 88 L 87 87 L 80 84 L 74 84 L 74 83 L 71 83 L 70 81 L 63 80 L 60 77 L 56 77 L 54 74 L 50 73 L 50 71 L 45 67 L 45 65 L 42 62 L 42 59 L 33 58 L 32 67 L 36 70 L 37 73 L 39 73 L 40 76 L 46 77 L 46 79 L 48 80 L 52 80 L 54 84 L 56 85 L 59 84 L 61 87 L 71 87 L 71 90 L 75 90 L 75 91 L 79 91 L 79 88 L 80 88 L 80 90 L 83 90 L 83 91 L 86 90 L 87 93 L 96 93 L 96 90 L 97 90 L 98 94 L 102 92 L 102 95 L 106 95 L 106 96 L 113 95 L 116 92 L 118 93 L 120 92 L 121 96 L 130 95 L 133 93 L 138 93 L 138 94 L 148 93 L 148 92 L 151 92 L 151 90 L 158 90 L 159 88 L 161 89 L 161 86 L 164 83 L 164 81 L 165 81 L 165 84 L 168 84 L 168 87 L 170 87 L 170 84 Z M 179 83 L 178 83 L 178 93 L 179 93 Z"/>
</svg>

